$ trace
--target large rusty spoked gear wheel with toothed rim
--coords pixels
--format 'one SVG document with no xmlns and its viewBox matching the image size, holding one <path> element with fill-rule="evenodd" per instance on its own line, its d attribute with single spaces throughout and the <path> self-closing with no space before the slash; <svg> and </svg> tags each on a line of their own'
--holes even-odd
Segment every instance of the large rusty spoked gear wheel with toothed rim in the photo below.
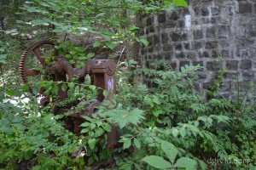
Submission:
<svg viewBox="0 0 256 170">
<path fill-rule="evenodd" d="M 39 88 L 39 83 L 47 79 L 47 65 L 45 59 L 50 59 L 57 54 L 55 43 L 44 40 L 33 44 L 21 56 L 20 77 L 22 82 L 29 84 L 29 91 L 38 86 L 39 95 L 44 94 L 44 88 Z M 37 94 L 36 94 L 37 95 Z"/>
</svg>

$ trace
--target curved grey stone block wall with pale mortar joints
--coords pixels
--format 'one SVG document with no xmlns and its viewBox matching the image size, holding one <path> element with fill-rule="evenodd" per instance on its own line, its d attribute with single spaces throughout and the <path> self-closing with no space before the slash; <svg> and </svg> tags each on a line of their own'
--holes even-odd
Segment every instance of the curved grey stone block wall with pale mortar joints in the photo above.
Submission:
<svg viewBox="0 0 256 170">
<path fill-rule="evenodd" d="M 235 77 L 256 82 L 256 0 L 189 0 L 189 8 L 141 17 L 141 36 L 149 42 L 138 49 L 138 60 L 149 66 L 168 60 L 173 69 L 202 65 L 196 88 L 208 88 L 221 67 L 224 95 L 236 95 Z M 220 61 L 220 58 L 223 61 Z"/>
</svg>

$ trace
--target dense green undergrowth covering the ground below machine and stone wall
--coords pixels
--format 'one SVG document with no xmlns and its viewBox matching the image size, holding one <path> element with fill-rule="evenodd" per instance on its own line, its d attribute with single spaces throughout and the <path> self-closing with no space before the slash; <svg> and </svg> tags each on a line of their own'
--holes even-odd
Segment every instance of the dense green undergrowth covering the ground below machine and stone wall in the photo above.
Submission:
<svg viewBox="0 0 256 170">
<path fill-rule="evenodd" d="M 201 66 L 185 65 L 176 72 L 166 63 L 143 71 L 154 88 L 137 77 L 131 82 L 136 61 L 121 63 L 118 93 L 98 107 L 97 115 L 84 117 L 79 137 L 64 128 L 66 116 L 52 114 L 54 103 L 42 108 L 31 94 L 3 89 L 0 168 L 17 169 L 26 162 L 33 169 L 81 169 L 109 160 L 115 162 L 111 169 L 255 167 L 254 105 L 218 95 L 206 100 L 194 88 Z M 86 95 L 77 86 L 68 84 L 73 98 Z M 96 92 L 93 86 L 86 90 Z M 107 134 L 113 126 L 119 129 L 119 147 L 110 150 Z"/>
</svg>

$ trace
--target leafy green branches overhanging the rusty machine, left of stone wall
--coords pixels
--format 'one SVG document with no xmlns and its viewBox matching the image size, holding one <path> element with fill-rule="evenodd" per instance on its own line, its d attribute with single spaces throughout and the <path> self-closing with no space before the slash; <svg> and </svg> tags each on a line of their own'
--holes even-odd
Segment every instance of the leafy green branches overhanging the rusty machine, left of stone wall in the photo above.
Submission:
<svg viewBox="0 0 256 170">
<path fill-rule="evenodd" d="M 171 2 L 160 0 L 143 3 L 139 0 L 112 1 L 38 1 L 27 2 L 19 13 L 23 20 L 17 20 L 20 28 L 29 26 L 34 34 L 54 33 L 68 36 L 94 38 L 101 37 L 93 47 L 115 48 L 119 43 L 131 41 L 142 42 L 148 46 L 144 37 L 135 37 L 140 28 L 133 24 L 134 16 L 157 14 L 176 7 L 187 7 L 184 0 Z M 37 17 L 34 18 L 33 16 Z M 32 29 L 32 30 L 31 30 Z M 25 29 L 23 29 L 26 31 Z M 61 34 L 59 34 L 61 33 Z"/>
</svg>

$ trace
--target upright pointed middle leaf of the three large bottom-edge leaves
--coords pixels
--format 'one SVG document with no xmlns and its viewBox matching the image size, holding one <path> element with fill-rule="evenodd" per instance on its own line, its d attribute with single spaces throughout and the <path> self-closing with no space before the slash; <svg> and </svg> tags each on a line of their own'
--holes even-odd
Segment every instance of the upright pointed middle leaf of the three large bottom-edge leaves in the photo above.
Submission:
<svg viewBox="0 0 256 170">
<path fill-rule="evenodd" d="M 161 149 L 166 153 L 166 156 L 173 164 L 175 161 L 175 158 L 177 156 L 177 149 L 176 149 L 175 145 L 173 145 L 170 142 L 166 142 L 166 141 L 162 140 L 161 141 Z"/>
</svg>

